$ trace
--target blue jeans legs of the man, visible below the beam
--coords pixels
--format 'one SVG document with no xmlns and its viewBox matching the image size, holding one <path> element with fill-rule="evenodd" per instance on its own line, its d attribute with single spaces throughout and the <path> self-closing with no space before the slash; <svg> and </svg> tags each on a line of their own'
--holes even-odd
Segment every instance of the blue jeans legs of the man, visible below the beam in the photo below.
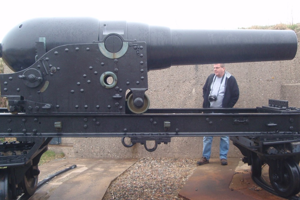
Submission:
<svg viewBox="0 0 300 200">
<path fill-rule="evenodd" d="M 203 137 L 202 156 L 204 156 L 207 160 L 210 159 L 212 138 L 213 138 L 212 136 Z M 227 159 L 228 150 L 229 150 L 229 137 L 223 136 L 220 139 L 220 159 L 222 158 Z"/>
</svg>

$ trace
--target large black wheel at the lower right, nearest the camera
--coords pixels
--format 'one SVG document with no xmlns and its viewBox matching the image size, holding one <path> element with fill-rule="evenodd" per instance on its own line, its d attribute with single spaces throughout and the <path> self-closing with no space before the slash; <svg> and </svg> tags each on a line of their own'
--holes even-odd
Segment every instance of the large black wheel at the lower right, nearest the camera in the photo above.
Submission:
<svg viewBox="0 0 300 200">
<path fill-rule="evenodd" d="M 300 168 L 295 161 L 284 160 L 280 168 L 277 164 L 269 166 L 269 178 L 273 189 L 279 196 L 288 197 L 299 193 Z"/>
</svg>

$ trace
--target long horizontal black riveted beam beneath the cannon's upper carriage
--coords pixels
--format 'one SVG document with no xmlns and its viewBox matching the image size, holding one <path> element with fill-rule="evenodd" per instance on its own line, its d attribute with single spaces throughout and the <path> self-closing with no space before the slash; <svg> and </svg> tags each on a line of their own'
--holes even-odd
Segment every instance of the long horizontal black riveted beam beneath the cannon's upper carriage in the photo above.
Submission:
<svg viewBox="0 0 300 200">
<path fill-rule="evenodd" d="M 300 137 L 299 117 L 299 113 L 1 114 L 0 137 Z"/>
</svg>

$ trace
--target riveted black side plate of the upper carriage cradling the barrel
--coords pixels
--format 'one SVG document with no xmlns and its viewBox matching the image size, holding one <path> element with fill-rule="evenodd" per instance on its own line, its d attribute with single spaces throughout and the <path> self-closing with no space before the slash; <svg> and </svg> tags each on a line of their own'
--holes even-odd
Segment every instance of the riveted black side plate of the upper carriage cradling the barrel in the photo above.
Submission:
<svg viewBox="0 0 300 200">
<path fill-rule="evenodd" d="M 142 46 L 145 43 L 135 42 L 132 45 Z M 10 110 L 17 112 L 125 113 L 126 90 L 134 91 L 134 97 L 144 97 L 148 89 L 146 49 L 138 54 L 134 47 L 129 44 L 122 58 L 107 62 L 98 43 L 57 47 L 26 70 L 1 74 L 0 80 L 5 82 L 1 96 L 7 97 Z M 142 52 L 145 52 L 144 57 L 140 57 Z M 132 57 L 137 59 L 130 59 Z M 40 71 L 41 76 L 35 75 L 31 81 L 26 74 L 36 71 Z M 109 73 L 116 76 L 113 83 L 116 85 L 102 85 L 105 83 L 104 76 Z M 53 95 L 57 93 L 59 95 Z M 69 102 L 69 99 L 72 101 Z"/>
</svg>

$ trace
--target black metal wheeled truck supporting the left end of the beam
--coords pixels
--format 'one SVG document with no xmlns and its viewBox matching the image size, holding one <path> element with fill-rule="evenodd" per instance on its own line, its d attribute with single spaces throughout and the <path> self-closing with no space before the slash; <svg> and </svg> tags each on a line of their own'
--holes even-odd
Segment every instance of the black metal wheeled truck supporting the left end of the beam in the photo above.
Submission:
<svg viewBox="0 0 300 200">
<path fill-rule="evenodd" d="M 23 137 L 17 140 L 0 144 L 0 167 L 7 167 L 0 170 L 5 177 L 1 181 L 0 196 L 7 196 L 7 200 L 16 199 L 24 192 L 30 195 L 35 193 L 36 184 L 32 184 L 32 180 L 38 180 L 38 163 L 41 155 L 47 151 L 51 138 Z"/>
</svg>

